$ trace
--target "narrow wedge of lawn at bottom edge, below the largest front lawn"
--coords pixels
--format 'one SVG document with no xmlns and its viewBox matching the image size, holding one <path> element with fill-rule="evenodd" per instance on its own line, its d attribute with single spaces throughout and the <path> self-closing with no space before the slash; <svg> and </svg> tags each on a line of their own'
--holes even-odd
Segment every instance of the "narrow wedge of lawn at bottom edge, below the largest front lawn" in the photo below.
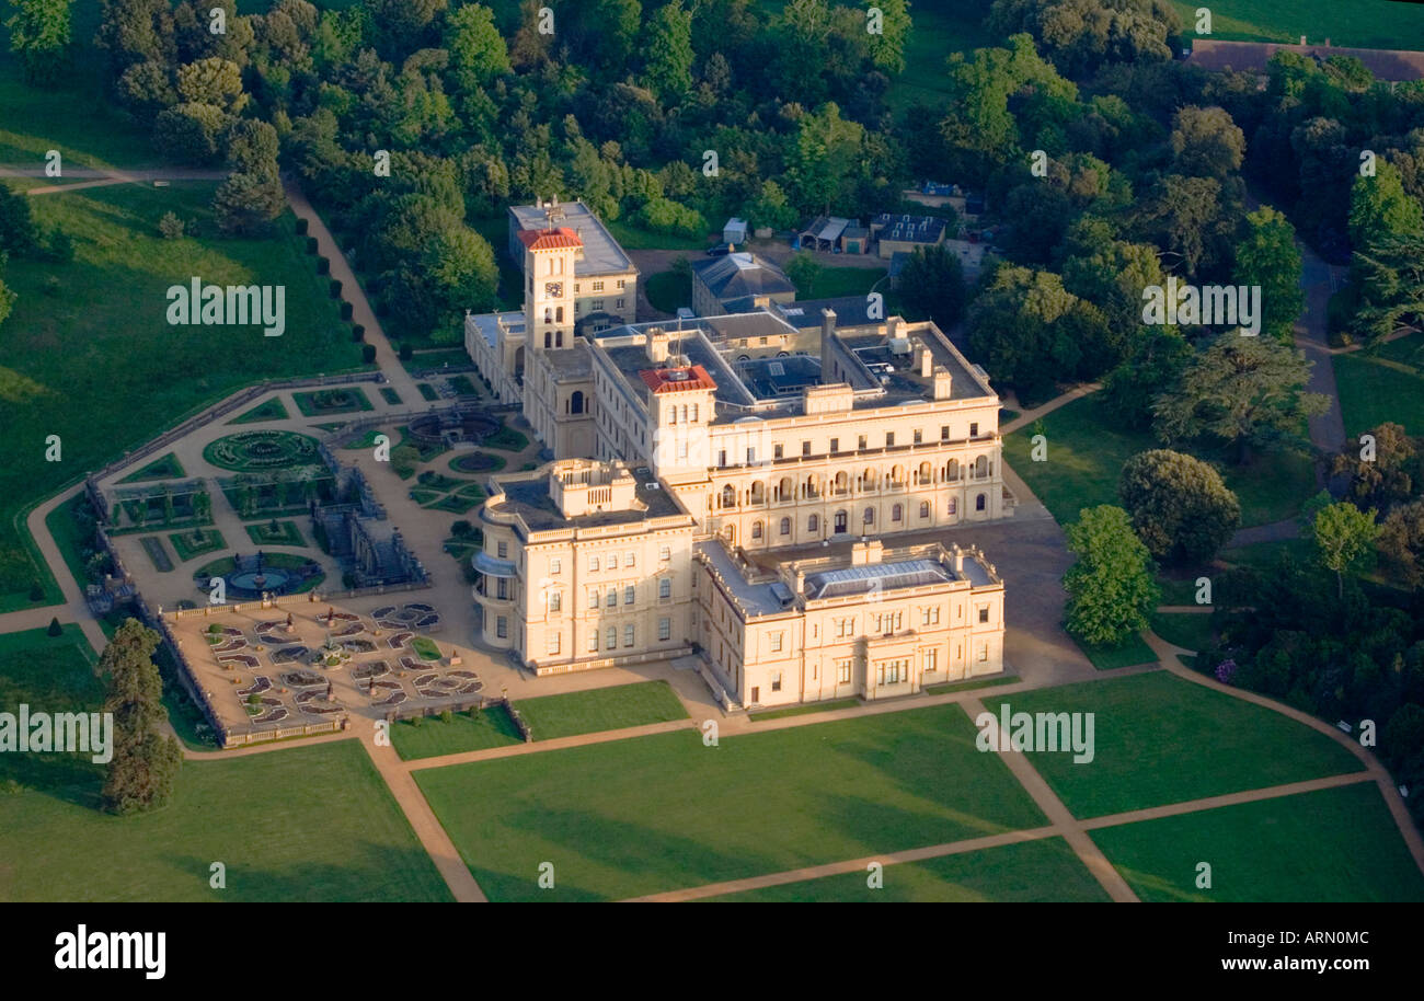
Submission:
<svg viewBox="0 0 1424 1001">
<path fill-rule="evenodd" d="M 883 886 L 869 873 L 844 873 L 802 883 L 743 890 L 708 903 L 1030 903 L 1109 900 L 1068 842 L 1045 837 L 997 849 L 886 866 Z"/>
</svg>

